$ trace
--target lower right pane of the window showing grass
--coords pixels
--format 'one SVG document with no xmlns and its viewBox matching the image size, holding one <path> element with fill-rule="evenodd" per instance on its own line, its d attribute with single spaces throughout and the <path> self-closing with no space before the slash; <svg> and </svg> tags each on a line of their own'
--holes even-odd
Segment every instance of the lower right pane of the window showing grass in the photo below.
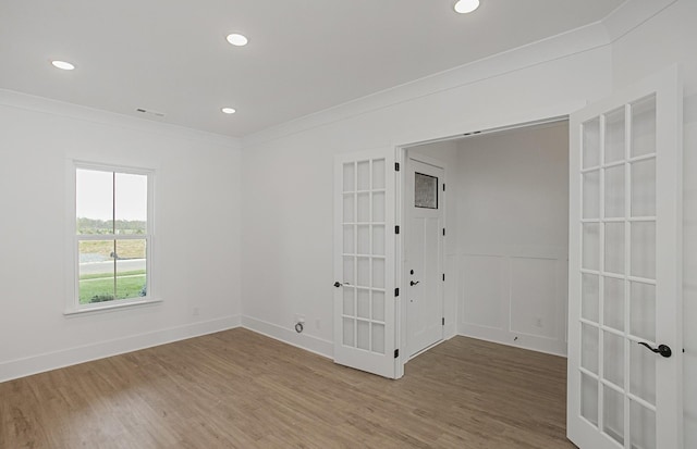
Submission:
<svg viewBox="0 0 697 449">
<path fill-rule="evenodd" d="M 117 299 L 147 294 L 146 240 L 117 240 Z"/>
</svg>

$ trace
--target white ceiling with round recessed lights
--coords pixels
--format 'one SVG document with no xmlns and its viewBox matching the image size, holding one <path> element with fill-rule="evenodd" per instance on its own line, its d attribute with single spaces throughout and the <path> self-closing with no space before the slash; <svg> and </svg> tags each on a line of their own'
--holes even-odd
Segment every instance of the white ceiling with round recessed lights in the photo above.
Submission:
<svg viewBox="0 0 697 449">
<path fill-rule="evenodd" d="M 0 0 L 0 88 L 241 137 L 597 22 L 622 2 L 481 0 L 461 15 L 454 0 Z M 230 46 L 233 32 L 249 45 Z"/>
</svg>

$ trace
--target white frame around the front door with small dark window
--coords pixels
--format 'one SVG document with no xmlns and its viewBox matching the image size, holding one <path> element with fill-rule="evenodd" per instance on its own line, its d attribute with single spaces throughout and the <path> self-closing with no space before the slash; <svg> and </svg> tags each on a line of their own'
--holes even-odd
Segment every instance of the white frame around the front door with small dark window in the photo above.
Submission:
<svg viewBox="0 0 697 449">
<path fill-rule="evenodd" d="M 440 169 L 443 171 L 443 178 L 441 184 L 445 185 L 447 184 L 447 179 L 448 179 L 448 170 L 445 169 L 445 164 L 443 163 L 443 161 L 429 157 L 429 155 L 425 155 L 421 153 L 412 153 L 409 151 L 408 148 L 404 148 L 404 164 L 402 165 L 404 167 L 403 171 L 401 171 L 402 173 L 400 174 L 400 177 L 402 178 L 402 180 L 404 182 L 404 187 L 406 188 L 408 180 L 406 179 L 407 176 L 407 172 L 408 172 L 408 166 L 409 166 L 409 159 L 414 159 L 418 162 L 425 163 L 427 165 L 432 165 L 437 169 Z M 439 204 L 442 204 L 442 207 L 439 207 L 440 211 L 443 214 L 443 228 L 447 227 L 445 226 L 445 191 L 441 190 L 439 191 L 439 195 L 441 195 L 439 200 Z M 409 201 L 411 196 L 408 195 L 408 192 L 406 190 L 404 190 L 404 195 L 401 197 L 401 201 L 402 201 L 402 215 L 400 216 L 400 221 L 403 224 L 403 232 L 400 233 L 400 239 L 403 241 L 404 245 L 404 249 L 406 248 L 406 238 L 407 238 L 407 234 L 408 234 L 408 204 L 407 202 Z M 442 202 L 441 202 L 442 201 Z M 407 272 L 407 266 L 406 266 L 406 252 L 405 251 L 401 251 L 400 252 L 401 259 L 398 261 L 398 264 L 400 266 L 400 271 L 402 272 L 402 276 L 404 279 L 407 278 L 406 272 Z M 440 261 L 439 261 L 440 267 L 442 269 L 443 273 L 445 272 L 445 245 L 444 245 L 444 240 L 441 240 L 441 251 L 440 251 Z M 406 361 L 409 361 L 411 359 L 414 359 L 415 357 L 426 352 L 427 350 L 429 350 L 430 348 L 440 345 L 441 342 L 445 341 L 445 326 L 443 325 L 442 328 L 442 335 L 441 338 L 436 341 L 435 344 L 419 350 L 418 352 L 414 353 L 414 354 L 408 354 L 406 351 L 407 348 L 407 337 L 408 337 L 408 317 L 407 317 L 407 309 L 408 305 L 406 303 L 406 292 L 407 290 L 407 286 L 406 286 L 406 280 L 405 284 L 403 286 L 403 291 L 404 291 L 404 300 L 402 301 L 402 303 L 404 304 L 404 308 L 402 308 L 402 310 L 400 311 L 400 315 L 398 315 L 398 320 L 401 323 L 401 328 L 404 329 L 401 333 L 402 338 L 399 341 L 399 346 L 400 348 L 404 348 L 404 356 L 406 357 Z M 442 311 L 443 311 L 443 317 L 450 322 L 450 320 L 452 319 L 452 316 L 445 316 L 445 287 L 442 286 L 440 289 L 440 302 L 441 302 L 441 307 L 442 307 Z M 403 327 L 402 327 L 403 326 Z M 406 363 L 406 362 L 405 362 Z"/>
</svg>

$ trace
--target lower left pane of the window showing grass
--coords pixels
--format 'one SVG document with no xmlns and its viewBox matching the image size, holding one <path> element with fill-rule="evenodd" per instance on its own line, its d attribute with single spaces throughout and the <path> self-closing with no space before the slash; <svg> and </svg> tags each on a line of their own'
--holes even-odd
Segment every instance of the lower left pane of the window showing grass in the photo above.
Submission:
<svg viewBox="0 0 697 449">
<path fill-rule="evenodd" d="M 114 298 L 113 240 L 80 241 L 80 303 L 112 301 Z"/>
</svg>

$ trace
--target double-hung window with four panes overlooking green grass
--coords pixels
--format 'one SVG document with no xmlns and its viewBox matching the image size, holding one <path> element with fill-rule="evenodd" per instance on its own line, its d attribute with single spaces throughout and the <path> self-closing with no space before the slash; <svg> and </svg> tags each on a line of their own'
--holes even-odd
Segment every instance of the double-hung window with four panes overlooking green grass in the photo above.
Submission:
<svg viewBox="0 0 697 449">
<path fill-rule="evenodd" d="M 152 172 L 75 164 L 70 312 L 149 302 Z"/>
</svg>

